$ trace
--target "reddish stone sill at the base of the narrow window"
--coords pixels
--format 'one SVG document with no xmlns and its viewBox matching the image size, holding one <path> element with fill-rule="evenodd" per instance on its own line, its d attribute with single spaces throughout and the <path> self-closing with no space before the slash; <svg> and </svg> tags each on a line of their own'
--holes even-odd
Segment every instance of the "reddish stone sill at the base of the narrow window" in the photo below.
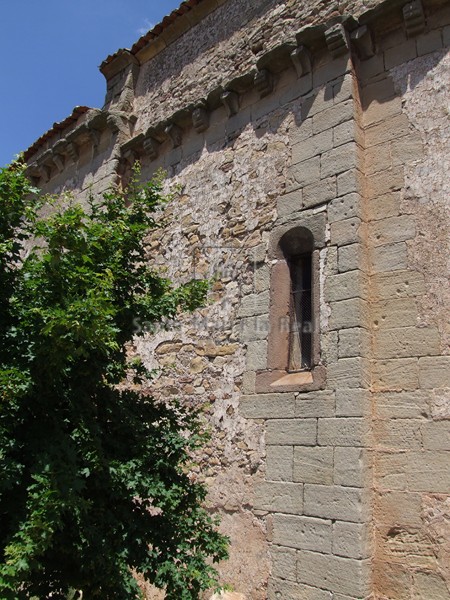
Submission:
<svg viewBox="0 0 450 600">
<path fill-rule="evenodd" d="M 326 369 L 314 367 L 311 371 L 288 373 L 287 371 L 267 370 L 256 373 L 256 393 L 273 392 L 312 392 L 324 389 Z"/>
</svg>

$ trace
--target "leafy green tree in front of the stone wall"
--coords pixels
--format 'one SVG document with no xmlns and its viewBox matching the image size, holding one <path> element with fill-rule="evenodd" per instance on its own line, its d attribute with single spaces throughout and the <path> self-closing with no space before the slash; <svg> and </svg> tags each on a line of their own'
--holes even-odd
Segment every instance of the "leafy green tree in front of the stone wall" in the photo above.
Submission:
<svg viewBox="0 0 450 600">
<path fill-rule="evenodd" d="M 211 563 L 226 557 L 205 489 L 189 476 L 199 415 L 139 392 L 149 374 L 127 356 L 136 319 L 172 319 L 206 292 L 149 268 L 144 238 L 165 198 L 160 180 L 137 181 L 85 210 L 40 200 L 20 163 L 0 173 L 5 600 L 73 590 L 135 599 L 133 572 L 190 600 L 216 585 Z"/>
</svg>

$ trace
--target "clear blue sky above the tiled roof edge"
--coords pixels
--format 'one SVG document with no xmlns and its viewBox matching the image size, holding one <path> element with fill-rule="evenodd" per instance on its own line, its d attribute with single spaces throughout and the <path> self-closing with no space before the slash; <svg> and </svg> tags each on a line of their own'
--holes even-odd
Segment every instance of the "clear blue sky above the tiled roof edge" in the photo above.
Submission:
<svg viewBox="0 0 450 600">
<path fill-rule="evenodd" d="M 98 65 L 181 0 L 14 0 L 0 17 L 0 166 L 74 106 L 101 108 Z"/>
</svg>

